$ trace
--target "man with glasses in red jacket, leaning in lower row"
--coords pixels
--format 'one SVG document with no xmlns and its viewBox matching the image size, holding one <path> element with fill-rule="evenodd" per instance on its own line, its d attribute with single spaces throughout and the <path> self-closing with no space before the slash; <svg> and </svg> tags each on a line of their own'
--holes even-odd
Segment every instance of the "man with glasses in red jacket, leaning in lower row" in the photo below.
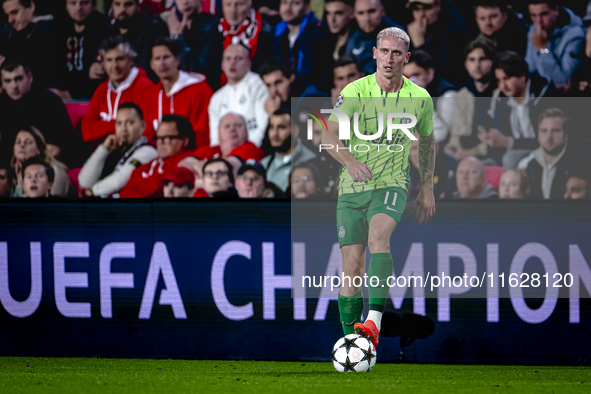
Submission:
<svg viewBox="0 0 591 394">
<path fill-rule="evenodd" d="M 158 157 L 136 168 L 121 189 L 122 198 L 162 197 L 167 172 L 192 153 L 195 134 L 191 122 L 180 115 L 165 115 L 156 131 Z"/>
</svg>

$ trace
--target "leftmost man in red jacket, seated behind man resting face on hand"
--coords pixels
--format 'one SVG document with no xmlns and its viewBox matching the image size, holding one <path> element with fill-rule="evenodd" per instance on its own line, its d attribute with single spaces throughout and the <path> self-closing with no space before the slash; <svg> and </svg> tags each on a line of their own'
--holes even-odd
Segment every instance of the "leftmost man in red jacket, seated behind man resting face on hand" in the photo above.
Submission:
<svg viewBox="0 0 591 394">
<path fill-rule="evenodd" d="M 115 133 L 115 118 L 120 103 L 138 103 L 142 111 L 147 112 L 142 103 L 154 85 L 144 70 L 134 66 L 136 52 L 123 37 L 104 40 L 100 53 L 109 79 L 94 92 L 88 113 L 82 119 L 82 138 L 86 142 L 99 141 Z M 151 133 L 152 123 L 148 122 L 146 135 Z"/>
</svg>

